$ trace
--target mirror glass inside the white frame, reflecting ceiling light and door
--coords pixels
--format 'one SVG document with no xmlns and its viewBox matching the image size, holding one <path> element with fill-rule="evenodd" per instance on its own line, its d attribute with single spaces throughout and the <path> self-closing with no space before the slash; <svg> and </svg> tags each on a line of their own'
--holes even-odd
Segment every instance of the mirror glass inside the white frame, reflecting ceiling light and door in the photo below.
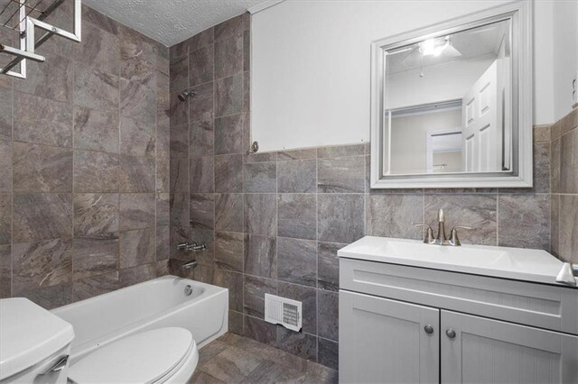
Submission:
<svg viewBox="0 0 578 384">
<path fill-rule="evenodd" d="M 510 24 L 385 50 L 385 175 L 511 170 Z"/>
</svg>

